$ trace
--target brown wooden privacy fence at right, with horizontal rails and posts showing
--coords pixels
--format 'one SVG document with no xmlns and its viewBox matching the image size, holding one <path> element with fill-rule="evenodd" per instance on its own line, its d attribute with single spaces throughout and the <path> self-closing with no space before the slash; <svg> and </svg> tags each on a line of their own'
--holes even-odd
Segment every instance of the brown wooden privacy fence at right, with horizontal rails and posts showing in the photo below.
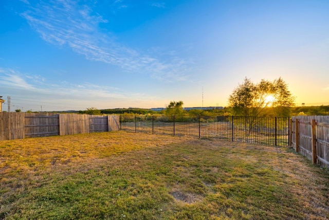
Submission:
<svg viewBox="0 0 329 220">
<path fill-rule="evenodd" d="M 329 116 L 297 116 L 290 120 L 290 143 L 314 164 L 329 168 Z"/>
</svg>

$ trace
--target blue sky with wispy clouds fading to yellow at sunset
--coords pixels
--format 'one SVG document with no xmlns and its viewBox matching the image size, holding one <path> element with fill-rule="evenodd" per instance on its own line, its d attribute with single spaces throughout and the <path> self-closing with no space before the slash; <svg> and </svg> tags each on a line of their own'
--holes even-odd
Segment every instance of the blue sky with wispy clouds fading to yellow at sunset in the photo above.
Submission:
<svg viewBox="0 0 329 220">
<path fill-rule="evenodd" d="M 329 104 L 329 1 L 1 1 L 0 96 L 11 111 L 226 106 L 282 77 Z"/>
</svg>

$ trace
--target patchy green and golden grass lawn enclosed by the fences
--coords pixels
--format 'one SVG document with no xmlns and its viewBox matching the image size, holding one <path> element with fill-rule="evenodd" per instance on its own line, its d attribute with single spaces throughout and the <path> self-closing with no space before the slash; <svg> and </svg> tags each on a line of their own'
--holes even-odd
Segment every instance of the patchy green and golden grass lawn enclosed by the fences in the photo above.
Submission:
<svg viewBox="0 0 329 220">
<path fill-rule="evenodd" d="M 0 141 L 0 219 L 327 219 L 286 147 L 111 132 Z"/>
</svg>

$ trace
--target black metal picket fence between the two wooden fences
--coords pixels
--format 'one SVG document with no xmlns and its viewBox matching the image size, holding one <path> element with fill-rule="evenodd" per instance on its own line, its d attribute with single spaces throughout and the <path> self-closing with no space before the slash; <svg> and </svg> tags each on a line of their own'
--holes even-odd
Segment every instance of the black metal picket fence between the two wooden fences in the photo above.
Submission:
<svg viewBox="0 0 329 220">
<path fill-rule="evenodd" d="M 120 130 L 288 146 L 289 118 L 120 115 Z"/>
</svg>

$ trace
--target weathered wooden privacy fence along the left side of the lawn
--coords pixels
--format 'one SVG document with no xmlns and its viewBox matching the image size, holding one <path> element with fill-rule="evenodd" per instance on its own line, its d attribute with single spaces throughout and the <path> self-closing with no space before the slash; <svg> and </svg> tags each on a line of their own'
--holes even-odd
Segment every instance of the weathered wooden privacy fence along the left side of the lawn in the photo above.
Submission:
<svg viewBox="0 0 329 220">
<path fill-rule="evenodd" d="M 119 131 L 119 116 L 0 113 L 0 140 Z"/>
</svg>

